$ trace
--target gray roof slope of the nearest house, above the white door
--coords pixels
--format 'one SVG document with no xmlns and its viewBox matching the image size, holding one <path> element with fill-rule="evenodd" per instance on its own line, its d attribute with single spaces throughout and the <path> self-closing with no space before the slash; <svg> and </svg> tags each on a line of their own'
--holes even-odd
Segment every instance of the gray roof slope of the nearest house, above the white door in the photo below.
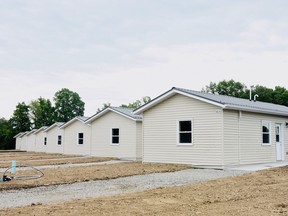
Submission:
<svg viewBox="0 0 288 216">
<path fill-rule="evenodd" d="M 251 112 L 261 112 L 261 113 L 269 113 L 269 114 L 277 114 L 277 115 L 284 115 L 288 116 L 288 107 L 272 104 L 272 103 L 265 103 L 260 101 L 250 101 L 248 99 L 241 99 L 235 98 L 225 95 L 216 95 L 211 93 L 205 92 L 198 92 L 183 88 L 173 88 L 175 90 L 203 98 L 205 100 L 219 103 L 225 106 L 225 108 L 230 109 L 237 109 L 237 110 L 246 110 Z"/>
</svg>

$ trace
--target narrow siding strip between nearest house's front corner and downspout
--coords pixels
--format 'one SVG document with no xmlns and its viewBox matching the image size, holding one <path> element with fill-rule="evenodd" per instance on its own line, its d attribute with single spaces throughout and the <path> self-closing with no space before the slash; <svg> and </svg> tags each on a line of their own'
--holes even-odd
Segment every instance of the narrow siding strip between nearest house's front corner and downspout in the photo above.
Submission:
<svg viewBox="0 0 288 216">
<path fill-rule="evenodd" d="M 237 165 L 239 158 L 239 111 L 224 110 L 224 164 Z"/>
</svg>

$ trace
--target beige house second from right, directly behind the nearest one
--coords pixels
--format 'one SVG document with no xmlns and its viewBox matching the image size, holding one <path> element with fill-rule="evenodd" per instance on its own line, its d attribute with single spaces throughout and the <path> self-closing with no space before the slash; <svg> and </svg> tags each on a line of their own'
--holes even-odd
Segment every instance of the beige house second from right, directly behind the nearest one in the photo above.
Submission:
<svg viewBox="0 0 288 216">
<path fill-rule="evenodd" d="M 91 125 L 91 155 L 141 160 L 142 116 L 132 111 L 108 107 L 86 121 Z"/>
</svg>

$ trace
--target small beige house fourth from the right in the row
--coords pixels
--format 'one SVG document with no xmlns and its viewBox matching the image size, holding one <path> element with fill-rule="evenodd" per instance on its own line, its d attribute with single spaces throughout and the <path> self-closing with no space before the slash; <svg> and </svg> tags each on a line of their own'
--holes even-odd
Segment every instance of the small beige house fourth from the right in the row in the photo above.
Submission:
<svg viewBox="0 0 288 216">
<path fill-rule="evenodd" d="M 47 153 L 63 153 L 63 129 L 60 129 L 63 124 L 63 122 L 55 122 L 45 129 L 47 137 Z"/>
</svg>

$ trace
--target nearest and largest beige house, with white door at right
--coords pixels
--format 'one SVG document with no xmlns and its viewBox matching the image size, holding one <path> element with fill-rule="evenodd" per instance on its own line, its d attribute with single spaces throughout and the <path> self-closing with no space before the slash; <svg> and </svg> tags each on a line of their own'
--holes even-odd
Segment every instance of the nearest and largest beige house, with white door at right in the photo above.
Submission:
<svg viewBox="0 0 288 216">
<path fill-rule="evenodd" d="M 288 160 L 288 107 L 172 88 L 143 114 L 143 161 L 225 167 Z"/>
</svg>

